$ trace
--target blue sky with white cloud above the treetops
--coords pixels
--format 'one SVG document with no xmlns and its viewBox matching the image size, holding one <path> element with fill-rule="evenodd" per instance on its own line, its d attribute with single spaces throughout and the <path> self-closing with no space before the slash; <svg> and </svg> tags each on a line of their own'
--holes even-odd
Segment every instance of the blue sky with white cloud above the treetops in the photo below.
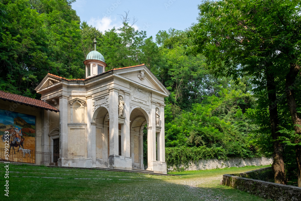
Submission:
<svg viewBox="0 0 301 201">
<path fill-rule="evenodd" d="M 119 14 L 135 17 L 138 21 L 133 25 L 135 29 L 144 30 L 147 37 L 155 39 L 159 30 L 175 28 L 185 30 L 196 23 L 198 16 L 197 5 L 201 0 L 153 0 L 153 1 L 125 1 L 125 0 L 76 0 L 72 8 L 76 10 L 81 22 L 86 21 L 104 33 L 113 27 L 119 28 L 122 20 Z"/>
</svg>

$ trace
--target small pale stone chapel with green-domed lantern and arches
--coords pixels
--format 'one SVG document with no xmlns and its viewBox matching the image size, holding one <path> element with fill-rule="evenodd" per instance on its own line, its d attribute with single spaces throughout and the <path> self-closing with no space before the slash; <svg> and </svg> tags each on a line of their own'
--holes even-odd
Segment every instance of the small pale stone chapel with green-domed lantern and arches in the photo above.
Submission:
<svg viewBox="0 0 301 201">
<path fill-rule="evenodd" d="M 39 150 L 57 147 L 61 166 L 166 174 L 164 98 L 169 91 L 144 64 L 105 71 L 94 43 L 84 61 L 85 79 L 47 74 L 36 87 L 41 100 L 59 111 L 43 111 Z"/>
</svg>

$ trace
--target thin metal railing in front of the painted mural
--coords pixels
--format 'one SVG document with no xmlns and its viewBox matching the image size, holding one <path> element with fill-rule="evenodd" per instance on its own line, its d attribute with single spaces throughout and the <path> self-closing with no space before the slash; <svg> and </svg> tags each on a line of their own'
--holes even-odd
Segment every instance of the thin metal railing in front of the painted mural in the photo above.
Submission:
<svg viewBox="0 0 301 201">
<path fill-rule="evenodd" d="M 0 148 L 0 162 L 9 161 L 18 164 L 61 166 L 61 154 L 28 150 L 29 149 L 25 149 L 22 151 L 18 148 L 13 150 L 11 148 L 10 153 L 8 154 L 8 149 L 5 150 L 5 148 Z"/>
</svg>

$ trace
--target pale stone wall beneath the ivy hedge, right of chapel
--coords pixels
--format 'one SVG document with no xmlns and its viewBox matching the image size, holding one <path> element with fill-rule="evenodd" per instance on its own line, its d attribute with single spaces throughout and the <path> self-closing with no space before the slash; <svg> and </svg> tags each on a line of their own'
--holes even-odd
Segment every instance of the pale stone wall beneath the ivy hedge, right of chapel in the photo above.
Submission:
<svg viewBox="0 0 301 201">
<path fill-rule="evenodd" d="M 198 162 L 190 162 L 189 165 L 180 165 L 180 167 L 169 166 L 167 167 L 167 171 L 173 171 L 177 169 L 183 170 L 209 170 L 216 168 L 229 168 L 229 167 L 244 167 L 246 165 L 271 165 L 273 159 L 271 158 L 229 158 L 228 160 L 218 160 L 218 159 L 207 159 L 207 160 L 199 160 Z"/>
</svg>

